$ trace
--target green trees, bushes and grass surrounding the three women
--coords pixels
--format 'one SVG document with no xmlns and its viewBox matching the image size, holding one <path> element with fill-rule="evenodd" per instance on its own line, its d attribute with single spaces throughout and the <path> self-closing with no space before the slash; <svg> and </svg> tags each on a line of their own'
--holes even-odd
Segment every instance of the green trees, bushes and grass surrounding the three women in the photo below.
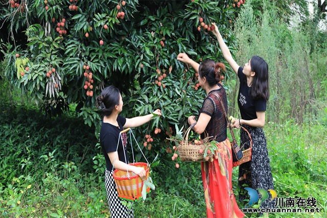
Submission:
<svg viewBox="0 0 327 218">
<path fill-rule="evenodd" d="M 315 197 L 322 210 L 270 216 L 324 217 L 327 166 L 326 153 L 319 151 L 327 140 L 327 50 L 326 33 L 317 26 L 324 19 L 321 7 L 311 18 L 290 26 L 291 1 L 252 0 L 240 8 L 233 8 L 231 1 L 127 1 L 121 9 L 124 19 L 115 19 L 119 3 L 115 1 L 48 1 L 48 10 L 43 1 L 18 1 L 25 4 L 23 12 L 2 3 L 0 213 L 4 217 L 109 216 L 105 161 L 97 139 L 101 115 L 95 99 L 110 84 L 123 94 L 122 115 L 145 115 L 156 108 L 163 114 L 133 129 L 138 144 L 146 134 L 154 139 L 151 150 L 142 146 L 148 160 L 158 155 L 151 175 L 156 190 L 134 204 L 135 215 L 205 217 L 200 165 L 180 163 L 177 169 L 172 154 L 166 152 L 173 146 L 166 131 L 171 127 L 174 135 L 175 124 L 187 127 L 185 117 L 198 114 L 205 97 L 201 88 L 195 89 L 194 69 L 176 60 L 178 53 L 197 62 L 209 58 L 226 64 L 213 35 L 197 30 L 199 16 L 206 23 L 210 19 L 218 23 L 241 66 L 254 54 L 267 60 L 271 98 L 265 133 L 277 195 Z M 69 10 L 71 4 L 78 11 Z M 308 13 L 306 2 L 292 4 Z M 60 36 L 56 28 L 63 18 L 67 34 Z M 83 88 L 84 65 L 92 72 L 93 96 Z M 223 85 L 229 114 L 239 117 L 234 101 L 238 81 L 226 67 Z M 46 77 L 52 68 L 56 71 Z M 161 81 L 166 88 L 155 84 L 157 69 L 167 76 Z M 161 133 L 154 134 L 155 128 Z M 144 161 L 138 150 L 135 157 Z M 237 171 L 233 169 L 232 178 L 236 196 Z M 240 208 L 245 203 L 238 202 Z"/>
</svg>

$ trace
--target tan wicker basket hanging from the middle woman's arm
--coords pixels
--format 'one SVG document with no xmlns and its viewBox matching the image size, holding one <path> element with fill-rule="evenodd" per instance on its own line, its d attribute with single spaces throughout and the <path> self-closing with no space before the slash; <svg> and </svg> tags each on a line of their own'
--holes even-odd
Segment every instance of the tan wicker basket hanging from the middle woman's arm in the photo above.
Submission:
<svg viewBox="0 0 327 218">
<path fill-rule="evenodd" d="M 209 137 L 205 137 L 202 140 L 202 144 L 207 145 L 198 145 L 194 143 L 194 140 L 189 141 L 189 134 L 191 132 L 191 128 L 186 130 L 184 134 L 183 141 L 181 144 L 177 147 L 179 158 L 182 162 L 203 162 L 206 161 L 204 159 L 204 151 L 207 147 L 211 147 L 211 144 L 209 144 Z M 203 150 L 202 153 L 200 153 L 200 149 Z M 209 157 L 209 160 L 213 158 L 213 154 L 208 154 L 207 157 Z"/>
</svg>

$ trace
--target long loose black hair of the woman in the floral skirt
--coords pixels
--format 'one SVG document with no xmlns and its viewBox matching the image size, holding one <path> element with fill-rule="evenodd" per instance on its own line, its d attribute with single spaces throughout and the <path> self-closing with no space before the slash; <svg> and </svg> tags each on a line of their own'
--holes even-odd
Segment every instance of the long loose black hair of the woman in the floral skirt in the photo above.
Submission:
<svg viewBox="0 0 327 218">
<path fill-rule="evenodd" d="M 251 96 L 253 99 L 265 99 L 269 100 L 269 82 L 268 82 L 268 64 L 267 62 L 258 56 L 251 58 L 251 71 L 255 72 L 253 77 Z"/>
</svg>

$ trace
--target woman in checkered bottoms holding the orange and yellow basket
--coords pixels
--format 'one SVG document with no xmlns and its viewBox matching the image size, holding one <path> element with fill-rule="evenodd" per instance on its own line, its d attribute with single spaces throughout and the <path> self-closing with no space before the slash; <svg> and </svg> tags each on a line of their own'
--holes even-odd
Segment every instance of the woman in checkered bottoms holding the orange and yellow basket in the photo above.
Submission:
<svg viewBox="0 0 327 218">
<path fill-rule="evenodd" d="M 151 113 L 146 116 L 137 116 L 133 118 L 125 118 L 119 115 L 123 110 L 122 95 L 119 89 L 112 85 L 102 90 L 101 95 L 97 97 L 97 106 L 102 110 L 103 115 L 100 144 L 106 159 L 105 185 L 110 217 L 134 217 L 133 209 L 129 210 L 118 198 L 118 192 L 112 177 L 112 168 L 114 164 L 114 169 L 120 169 L 121 171 L 127 171 L 128 169 L 128 172 L 133 172 L 141 177 L 141 179 L 145 179 L 146 172 L 143 167 L 136 167 L 128 164 L 129 157 L 127 153 L 126 133 L 122 134 L 122 139 L 119 140 L 118 148 L 117 144 L 119 134 L 124 128 L 141 126 L 149 122 L 153 114 Z M 153 113 L 161 115 L 159 109 Z"/>
</svg>

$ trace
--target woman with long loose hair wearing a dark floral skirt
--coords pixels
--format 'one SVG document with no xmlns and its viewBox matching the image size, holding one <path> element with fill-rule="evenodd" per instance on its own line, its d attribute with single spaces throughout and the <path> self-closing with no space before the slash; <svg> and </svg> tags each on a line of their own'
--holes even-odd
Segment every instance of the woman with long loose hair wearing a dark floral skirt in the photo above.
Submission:
<svg viewBox="0 0 327 218">
<path fill-rule="evenodd" d="M 249 131 L 253 142 L 251 161 L 241 164 L 239 168 L 239 186 L 243 190 L 244 185 L 255 190 L 258 188 L 274 189 L 267 141 L 262 129 L 265 125 L 266 104 L 269 99 L 268 64 L 264 59 L 253 56 L 244 68 L 240 67 L 232 58 L 215 23 L 213 26 L 215 29 L 212 32 L 218 39 L 224 58 L 240 79 L 238 105 L 242 119 L 235 120 L 232 127 L 241 128 L 244 126 Z M 249 147 L 248 136 L 241 129 L 241 144 L 244 143 Z M 248 199 L 247 195 L 240 195 L 240 201 L 245 199 Z M 273 208 L 274 201 L 262 202 L 261 208 Z M 268 217 L 268 213 L 264 215 Z"/>
</svg>

